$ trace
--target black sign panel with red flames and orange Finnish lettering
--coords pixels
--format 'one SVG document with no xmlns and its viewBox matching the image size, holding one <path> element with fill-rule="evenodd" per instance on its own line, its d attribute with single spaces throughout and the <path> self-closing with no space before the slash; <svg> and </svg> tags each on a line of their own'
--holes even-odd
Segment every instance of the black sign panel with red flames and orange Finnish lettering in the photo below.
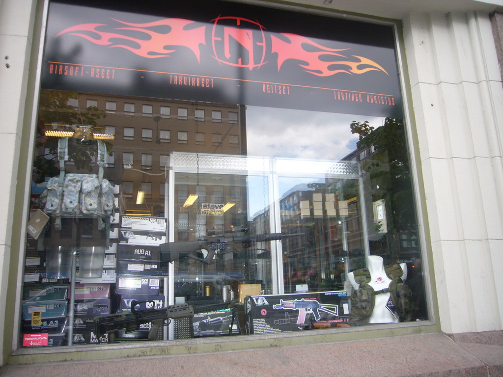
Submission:
<svg viewBox="0 0 503 377">
<path fill-rule="evenodd" d="M 135 3 L 51 3 L 43 87 L 402 116 L 389 26 L 217 1 Z"/>
</svg>

